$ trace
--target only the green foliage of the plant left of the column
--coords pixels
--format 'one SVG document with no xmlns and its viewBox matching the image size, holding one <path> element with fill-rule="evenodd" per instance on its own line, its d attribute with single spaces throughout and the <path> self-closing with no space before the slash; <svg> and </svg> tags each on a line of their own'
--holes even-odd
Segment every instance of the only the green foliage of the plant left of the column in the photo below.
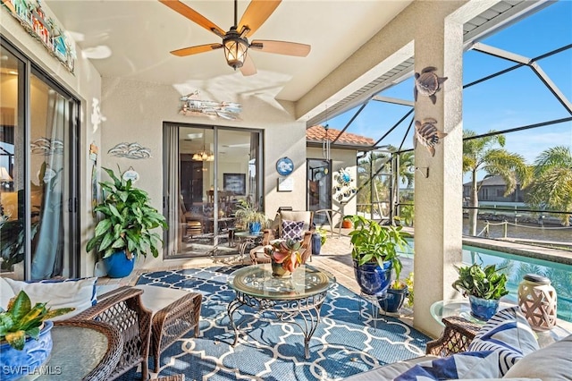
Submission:
<svg viewBox="0 0 572 381">
<path fill-rule="evenodd" d="M 344 219 L 351 220 L 354 225 L 354 230 L 349 232 L 349 236 L 352 245 L 351 257 L 357 261 L 357 264 L 361 266 L 367 262 L 377 262 L 380 267 L 383 267 L 383 262 L 391 261 L 396 278 L 400 279 L 399 250 L 405 250 L 408 247 L 406 238 L 409 234 L 403 232 L 401 226 L 382 226 L 363 216 L 345 216 Z"/>
</svg>

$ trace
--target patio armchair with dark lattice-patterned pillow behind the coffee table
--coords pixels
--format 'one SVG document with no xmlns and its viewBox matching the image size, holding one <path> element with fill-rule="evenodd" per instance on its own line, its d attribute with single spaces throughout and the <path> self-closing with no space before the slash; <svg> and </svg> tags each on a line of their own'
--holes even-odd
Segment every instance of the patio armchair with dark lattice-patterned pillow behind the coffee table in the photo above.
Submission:
<svg viewBox="0 0 572 381">
<path fill-rule="evenodd" d="M 262 245 L 250 250 L 250 261 L 253 265 L 270 263 L 265 255 L 264 246 L 275 239 L 297 238 L 302 241 L 300 256 L 302 263 L 312 260 L 312 234 L 314 212 L 307 210 L 280 210 L 270 229 L 265 229 Z"/>
</svg>

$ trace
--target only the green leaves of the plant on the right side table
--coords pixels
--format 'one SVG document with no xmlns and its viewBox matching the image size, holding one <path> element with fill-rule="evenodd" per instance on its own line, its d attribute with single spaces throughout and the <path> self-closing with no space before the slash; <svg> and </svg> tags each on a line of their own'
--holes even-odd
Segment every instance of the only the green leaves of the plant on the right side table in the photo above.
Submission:
<svg viewBox="0 0 572 381">
<path fill-rule="evenodd" d="M 509 293 L 507 275 L 501 273 L 496 265 L 485 267 L 474 263 L 471 266 L 457 267 L 458 279 L 453 288 L 463 295 L 477 298 L 499 300 Z"/>
</svg>

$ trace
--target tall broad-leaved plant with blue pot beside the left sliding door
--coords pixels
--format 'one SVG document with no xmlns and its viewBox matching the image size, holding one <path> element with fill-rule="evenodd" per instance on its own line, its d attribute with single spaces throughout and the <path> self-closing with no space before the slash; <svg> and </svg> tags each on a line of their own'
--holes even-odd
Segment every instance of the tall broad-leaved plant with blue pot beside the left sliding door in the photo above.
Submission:
<svg viewBox="0 0 572 381">
<path fill-rule="evenodd" d="M 145 190 L 133 187 L 131 180 L 116 176 L 111 169 L 104 170 L 113 182 L 99 183 L 105 199 L 94 210 L 103 218 L 86 250 L 96 249 L 103 257 L 107 275 L 121 278 L 130 275 L 137 256 L 147 257 L 149 251 L 153 257 L 159 256 L 157 245 L 163 240 L 153 229 L 166 229 L 167 224 L 164 216 L 150 205 Z"/>
</svg>

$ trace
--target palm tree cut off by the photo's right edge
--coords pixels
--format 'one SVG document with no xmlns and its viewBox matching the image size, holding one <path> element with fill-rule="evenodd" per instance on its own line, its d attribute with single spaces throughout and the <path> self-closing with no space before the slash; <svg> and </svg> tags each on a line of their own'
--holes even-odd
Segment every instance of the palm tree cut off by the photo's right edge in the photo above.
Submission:
<svg viewBox="0 0 572 381">
<path fill-rule="evenodd" d="M 534 160 L 534 180 L 530 184 L 527 203 L 531 207 L 546 207 L 568 212 L 559 214 L 564 226 L 572 216 L 572 153 L 559 146 L 544 150 Z"/>
</svg>

